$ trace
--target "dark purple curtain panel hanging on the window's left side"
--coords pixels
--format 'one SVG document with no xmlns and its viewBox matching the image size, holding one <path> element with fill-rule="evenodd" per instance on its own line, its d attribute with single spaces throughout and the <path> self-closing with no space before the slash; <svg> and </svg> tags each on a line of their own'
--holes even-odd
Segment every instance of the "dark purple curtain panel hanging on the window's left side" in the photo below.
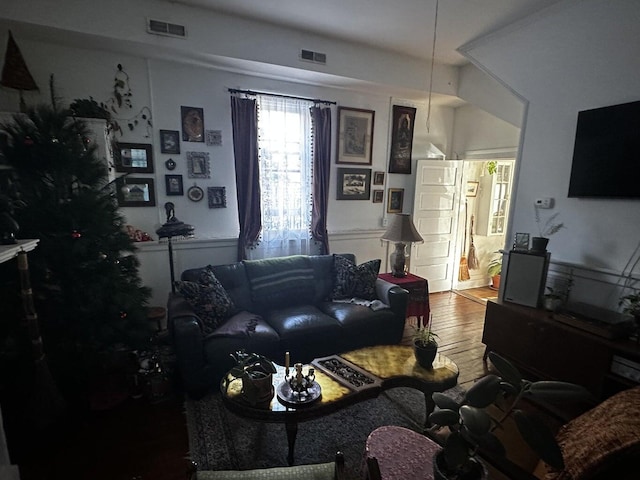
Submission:
<svg viewBox="0 0 640 480">
<path fill-rule="evenodd" d="M 238 194 L 238 261 L 258 241 L 262 229 L 258 166 L 258 107 L 254 98 L 231 96 L 233 152 Z"/>
</svg>

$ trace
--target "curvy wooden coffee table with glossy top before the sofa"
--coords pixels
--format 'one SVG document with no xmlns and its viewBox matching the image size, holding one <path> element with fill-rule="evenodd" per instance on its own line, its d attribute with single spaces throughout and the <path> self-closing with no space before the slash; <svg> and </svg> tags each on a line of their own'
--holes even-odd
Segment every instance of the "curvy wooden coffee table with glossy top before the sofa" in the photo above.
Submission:
<svg viewBox="0 0 640 480">
<path fill-rule="evenodd" d="M 366 382 L 350 383 L 348 378 L 341 377 L 335 369 L 328 367 L 334 362 L 340 362 L 341 366 L 346 367 L 344 370 L 350 370 L 356 374 L 354 376 L 364 375 Z M 220 384 L 222 401 L 233 413 L 261 422 L 285 424 L 289 465 L 293 465 L 299 422 L 329 415 L 349 405 L 375 398 L 384 390 L 394 387 L 410 387 L 423 392 L 425 418 L 428 418 L 435 408 L 431 394 L 452 388 L 458 383 L 458 366 L 451 359 L 438 354 L 433 368 L 427 370 L 416 363 L 413 347 L 406 345 L 361 348 L 340 355 L 317 358 L 312 365 L 316 369 L 315 381 L 322 388 L 322 396 L 312 404 L 297 408 L 283 405 L 275 395 L 268 404 L 252 406 L 242 395 L 242 380 L 230 375 Z M 273 383 L 278 386 L 284 381 L 285 369 L 279 365 L 276 365 L 276 369 Z M 305 366 L 304 370 L 306 369 Z"/>
</svg>

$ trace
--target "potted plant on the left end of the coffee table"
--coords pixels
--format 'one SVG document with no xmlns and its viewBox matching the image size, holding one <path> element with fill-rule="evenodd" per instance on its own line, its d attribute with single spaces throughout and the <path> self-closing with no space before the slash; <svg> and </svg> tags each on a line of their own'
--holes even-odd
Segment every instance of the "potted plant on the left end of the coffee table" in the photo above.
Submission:
<svg viewBox="0 0 640 480">
<path fill-rule="evenodd" d="M 251 405 L 270 401 L 273 397 L 273 374 L 276 373 L 273 362 L 264 355 L 244 350 L 232 353 L 231 357 L 236 365 L 229 374 L 242 379 L 242 394 L 247 401 Z"/>
</svg>

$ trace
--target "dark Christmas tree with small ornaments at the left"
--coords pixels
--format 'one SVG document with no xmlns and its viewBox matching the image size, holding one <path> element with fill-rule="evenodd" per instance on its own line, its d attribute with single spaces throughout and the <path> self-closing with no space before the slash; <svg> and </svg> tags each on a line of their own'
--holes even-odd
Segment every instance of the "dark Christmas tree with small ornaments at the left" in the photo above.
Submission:
<svg viewBox="0 0 640 480">
<path fill-rule="evenodd" d="M 29 264 L 54 376 L 56 369 L 68 376 L 72 366 L 74 376 L 86 377 L 104 352 L 148 345 L 150 291 L 135 245 L 81 119 L 54 103 L 0 128 L 20 194 L 17 237 L 40 239 Z"/>
</svg>

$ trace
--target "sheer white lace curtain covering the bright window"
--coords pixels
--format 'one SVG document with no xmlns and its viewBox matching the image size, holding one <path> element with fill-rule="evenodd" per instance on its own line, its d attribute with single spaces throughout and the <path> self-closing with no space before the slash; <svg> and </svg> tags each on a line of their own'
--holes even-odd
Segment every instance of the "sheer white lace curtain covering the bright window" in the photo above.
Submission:
<svg viewBox="0 0 640 480">
<path fill-rule="evenodd" d="M 258 96 L 262 232 L 249 258 L 311 254 L 312 102 Z"/>
</svg>

